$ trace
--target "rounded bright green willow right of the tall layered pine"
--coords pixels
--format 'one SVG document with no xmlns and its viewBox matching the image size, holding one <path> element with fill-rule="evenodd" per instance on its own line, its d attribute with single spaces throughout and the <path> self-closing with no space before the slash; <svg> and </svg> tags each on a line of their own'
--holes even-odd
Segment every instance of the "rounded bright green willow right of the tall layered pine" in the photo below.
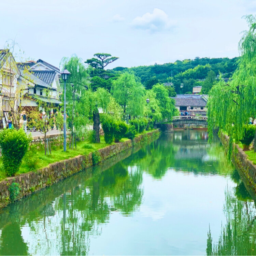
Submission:
<svg viewBox="0 0 256 256">
<path fill-rule="evenodd" d="M 134 74 L 125 72 L 113 81 L 111 93 L 122 106 L 124 118 L 143 115 L 145 88 L 136 80 Z"/>
</svg>

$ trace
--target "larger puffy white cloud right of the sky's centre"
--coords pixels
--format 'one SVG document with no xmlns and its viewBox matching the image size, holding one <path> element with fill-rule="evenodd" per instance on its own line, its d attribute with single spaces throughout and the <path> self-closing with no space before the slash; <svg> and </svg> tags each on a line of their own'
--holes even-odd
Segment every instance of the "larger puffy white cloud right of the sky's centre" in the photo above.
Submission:
<svg viewBox="0 0 256 256">
<path fill-rule="evenodd" d="M 137 29 L 149 30 L 151 32 L 169 30 L 176 24 L 175 20 L 171 20 L 168 15 L 155 8 L 153 13 L 145 13 L 142 17 L 136 17 L 132 20 L 132 27 Z"/>
</svg>

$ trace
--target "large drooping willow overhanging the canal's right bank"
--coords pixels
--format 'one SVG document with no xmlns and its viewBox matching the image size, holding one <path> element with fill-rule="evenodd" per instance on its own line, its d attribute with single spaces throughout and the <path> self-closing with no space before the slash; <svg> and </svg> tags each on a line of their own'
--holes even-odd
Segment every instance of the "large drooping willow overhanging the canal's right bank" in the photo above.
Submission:
<svg viewBox="0 0 256 256">
<path fill-rule="evenodd" d="M 226 84 L 222 79 L 212 87 L 208 100 L 209 137 L 215 127 L 236 141 L 244 135 L 244 125 L 256 117 L 256 16 L 244 17 L 249 30 L 243 31 L 239 42 L 240 62 Z"/>
</svg>

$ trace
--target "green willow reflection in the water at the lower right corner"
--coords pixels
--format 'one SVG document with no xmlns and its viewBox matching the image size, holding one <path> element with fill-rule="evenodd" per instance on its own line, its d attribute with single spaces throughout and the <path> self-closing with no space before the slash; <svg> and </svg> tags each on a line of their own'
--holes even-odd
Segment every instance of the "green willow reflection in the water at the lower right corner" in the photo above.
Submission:
<svg viewBox="0 0 256 256">
<path fill-rule="evenodd" d="M 236 174 L 232 175 L 236 177 Z M 212 243 L 209 228 L 207 255 L 256 255 L 256 211 L 243 183 L 225 193 L 224 212 L 227 223 L 217 243 Z"/>
</svg>

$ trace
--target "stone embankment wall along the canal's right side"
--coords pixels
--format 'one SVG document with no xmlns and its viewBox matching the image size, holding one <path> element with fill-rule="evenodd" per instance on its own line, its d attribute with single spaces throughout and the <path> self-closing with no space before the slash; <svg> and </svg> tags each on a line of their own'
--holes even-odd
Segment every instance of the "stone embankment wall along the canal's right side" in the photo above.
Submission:
<svg viewBox="0 0 256 256">
<path fill-rule="evenodd" d="M 223 146 L 228 150 L 229 137 L 221 134 L 220 137 Z M 245 186 L 250 186 L 250 190 L 256 193 L 256 165 L 247 158 L 248 156 L 244 153 L 242 148 L 237 144 L 233 143 L 233 150 L 231 160 L 236 169 L 242 174 L 242 179 L 245 182 Z"/>
</svg>

